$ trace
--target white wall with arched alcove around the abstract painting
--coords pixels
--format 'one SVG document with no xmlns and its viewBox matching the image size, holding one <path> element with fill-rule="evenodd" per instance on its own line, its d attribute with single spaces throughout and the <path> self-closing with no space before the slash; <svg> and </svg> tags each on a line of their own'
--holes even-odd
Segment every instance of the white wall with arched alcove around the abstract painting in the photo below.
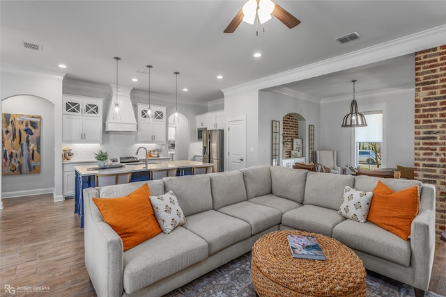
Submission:
<svg viewBox="0 0 446 297">
<path fill-rule="evenodd" d="M 43 143 L 41 143 L 42 162 L 45 162 L 42 163 L 43 172 L 2 177 L 2 196 L 53 193 L 55 201 L 63 200 L 62 161 L 59 149 L 62 135 L 62 77 L 59 74 L 38 73 L 2 65 L 0 98 L 4 113 L 45 116 L 43 118 L 45 130 L 43 127 Z"/>
</svg>

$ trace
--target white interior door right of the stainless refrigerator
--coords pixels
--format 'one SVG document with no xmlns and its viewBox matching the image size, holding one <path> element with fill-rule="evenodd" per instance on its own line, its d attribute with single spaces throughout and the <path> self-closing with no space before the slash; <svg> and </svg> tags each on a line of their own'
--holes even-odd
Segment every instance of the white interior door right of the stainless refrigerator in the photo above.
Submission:
<svg viewBox="0 0 446 297">
<path fill-rule="evenodd" d="M 229 170 L 246 167 L 246 120 L 228 122 Z"/>
</svg>

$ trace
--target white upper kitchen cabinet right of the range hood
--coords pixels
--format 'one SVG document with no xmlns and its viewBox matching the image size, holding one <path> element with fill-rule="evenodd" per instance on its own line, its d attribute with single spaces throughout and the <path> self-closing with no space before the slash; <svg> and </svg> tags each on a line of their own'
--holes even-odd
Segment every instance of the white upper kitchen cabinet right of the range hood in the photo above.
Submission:
<svg viewBox="0 0 446 297">
<path fill-rule="evenodd" d="M 166 143 L 166 107 L 151 105 L 153 121 L 148 120 L 147 104 L 138 104 L 138 142 Z"/>
</svg>

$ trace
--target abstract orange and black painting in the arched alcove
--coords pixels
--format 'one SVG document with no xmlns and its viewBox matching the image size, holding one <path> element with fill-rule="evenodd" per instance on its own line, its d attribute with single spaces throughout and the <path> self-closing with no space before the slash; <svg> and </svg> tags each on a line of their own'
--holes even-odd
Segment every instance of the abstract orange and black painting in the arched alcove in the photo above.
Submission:
<svg viewBox="0 0 446 297">
<path fill-rule="evenodd" d="M 2 114 L 2 175 L 40 173 L 40 115 Z"/>
</svg>

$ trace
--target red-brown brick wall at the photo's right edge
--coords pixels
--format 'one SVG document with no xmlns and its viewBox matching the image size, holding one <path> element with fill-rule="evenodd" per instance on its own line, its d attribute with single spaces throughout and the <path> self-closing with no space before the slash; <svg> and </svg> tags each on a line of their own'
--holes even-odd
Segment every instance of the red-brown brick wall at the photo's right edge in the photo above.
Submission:
<svg viewBox="0 0 446 297">
<path fill-rule="evenodd" d="M 415 179 L 436 186 L 436 239 L 446 230 L 446 45 L 415 53 Z"/>
</svg>

